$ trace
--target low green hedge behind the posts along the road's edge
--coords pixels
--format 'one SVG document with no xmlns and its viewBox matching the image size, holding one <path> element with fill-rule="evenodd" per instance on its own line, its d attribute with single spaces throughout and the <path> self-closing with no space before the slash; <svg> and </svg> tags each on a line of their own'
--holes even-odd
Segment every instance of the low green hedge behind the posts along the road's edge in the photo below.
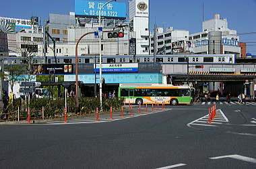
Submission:
<svg viewBox="0 0 256 169">
<path fill-rule="evenodd" d="M 28 101 L 27 101 L 28 102 Z M 102 109 L 103 111 L 109 111 L 110 106 L 113 106 L 113 109 L 119 109 L 123 104 L 123 99 L 111 98 L 106 99 L 102 98 Z M 13 103 L 8 105 L 8 113 L 15 112 L 20 109 L 26 109 L 25 100 L 16 99 Z M 63 110 L 65 108 L 64 99 L 30 99 L 30 111 L 34 112 L 33 115 L 38 117 L 41 115 L 42 107 L 44 107 L 44 117 L 53 118 L 63 116 Z M 79 99 L 79 107 L 75 106 L 75 97 L 67 98 L 67 113 L 95 113 L 96 107 L 100 108 L 100 98 L 96 97 L 84 97 Z"/>
</svg>

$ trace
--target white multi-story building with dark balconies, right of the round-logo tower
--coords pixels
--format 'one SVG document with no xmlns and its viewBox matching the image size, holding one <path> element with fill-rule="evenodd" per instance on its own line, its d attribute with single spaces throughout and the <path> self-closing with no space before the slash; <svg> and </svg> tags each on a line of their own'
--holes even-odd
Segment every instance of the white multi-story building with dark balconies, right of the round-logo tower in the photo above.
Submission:
<svg viewBox="0 0 256 169">
<path fill-rule="evenodd" d="M 156 29 L 156 52 L 157 54 L 172 54 L 174 51 L 174 42 L 186 41 L 189 39 L 189 31 L 173 30 L 173 27 L 167 27 L 164 32 L 163 27 Z M 183 46 L 184 50 L 184 46 Z M 150 54 L 154 54 L 154 34 L 150 34 Z"/>
</svg>

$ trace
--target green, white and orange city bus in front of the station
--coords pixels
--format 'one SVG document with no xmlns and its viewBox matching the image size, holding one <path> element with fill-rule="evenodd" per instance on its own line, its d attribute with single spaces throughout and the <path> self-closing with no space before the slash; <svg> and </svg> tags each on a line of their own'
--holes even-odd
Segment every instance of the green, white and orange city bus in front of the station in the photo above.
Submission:
<svg viewBox="0 0 256 169">
<path fill-rule="evenodd" d="M 118 96 L 128 104 L 191 104 L 195 89 L 171 84 L 119 84 Z"/>
</svg>

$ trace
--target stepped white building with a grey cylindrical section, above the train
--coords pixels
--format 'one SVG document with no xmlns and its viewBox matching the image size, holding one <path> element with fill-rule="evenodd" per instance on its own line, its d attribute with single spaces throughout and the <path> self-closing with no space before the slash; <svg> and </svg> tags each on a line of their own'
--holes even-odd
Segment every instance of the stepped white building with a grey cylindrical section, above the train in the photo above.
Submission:
<svg viewBox="0 0 256 169">
<path fill-rule="evenodd" d="M 189 40 L 195 44 L 195 54 L 236 54 L 241 56 L 238 46 L 239 36 L 236 30 L 228 28 L 226 18 L 216 14 L 213 19 L 203 21 L 203 30 L 189 35 Z"/>
</svg>

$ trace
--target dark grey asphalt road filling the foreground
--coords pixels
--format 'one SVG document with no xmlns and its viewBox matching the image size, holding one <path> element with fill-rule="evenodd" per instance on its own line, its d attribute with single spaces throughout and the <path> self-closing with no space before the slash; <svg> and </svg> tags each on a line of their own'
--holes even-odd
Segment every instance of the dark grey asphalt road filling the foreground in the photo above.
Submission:
<svg viewBox="0 0 256 169">
<path fill-rule="evenodd" d="M 256 105 L 217 105 L 228 122 L 219 113 L 212 124 L 200 119 L 208 107 L 106 123 L 0 125 L 0 168 L 256 168 Z"/>
</svg>

